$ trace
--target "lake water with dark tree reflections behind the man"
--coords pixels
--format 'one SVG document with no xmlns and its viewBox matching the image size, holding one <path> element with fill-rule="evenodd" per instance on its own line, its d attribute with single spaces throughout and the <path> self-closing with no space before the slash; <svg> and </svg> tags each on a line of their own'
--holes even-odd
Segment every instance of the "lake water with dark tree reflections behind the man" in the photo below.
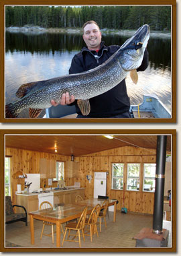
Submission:
<svg viewBox="0 0 181 256">
<path fill-rule="evenodd" d="M 105 44 L 121 45 L 127 37 L 103 36 Z M 68 74 L 72 57 L 84 42 L 78 34 L 23 34 L 6 32 L 5 102 L 13 102 L 21 84 Z M 172 109 L 171 40 L 149 38 L 149 67 L 139 72 L 135 85 L 127 76 L 127 93 L 131 104 L 142 102 L 143 94 L 155 94 Z M 18 117 L 29 117 L 23 110 Z M 40 116 L 41 117 L 41 116 Z"/>
</svg>

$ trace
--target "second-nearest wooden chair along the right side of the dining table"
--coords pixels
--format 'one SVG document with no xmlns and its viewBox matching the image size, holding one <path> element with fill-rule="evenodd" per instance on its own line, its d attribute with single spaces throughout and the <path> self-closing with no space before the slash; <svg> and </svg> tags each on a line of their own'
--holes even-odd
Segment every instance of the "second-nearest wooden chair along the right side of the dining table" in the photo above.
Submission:
<svg viewBox="0 0 181 256">
<path fill-rule="evenodd" d="M 91 215 L 88 219 L 85 221 L 85 228 L 84 228 L 84 235 L 91 237 L 91 242 L 93 242 L 93 234 L 95 232 L 97 233 L 97 237 L 99 237 L 98 231 L 97 231 L 97 218 L 99 216 L 101 210 L 101 205 L 97 204 L 93 211 L 91 212 Z M 90 234 L 88 234 L 90 232 Z"/>
</svg>

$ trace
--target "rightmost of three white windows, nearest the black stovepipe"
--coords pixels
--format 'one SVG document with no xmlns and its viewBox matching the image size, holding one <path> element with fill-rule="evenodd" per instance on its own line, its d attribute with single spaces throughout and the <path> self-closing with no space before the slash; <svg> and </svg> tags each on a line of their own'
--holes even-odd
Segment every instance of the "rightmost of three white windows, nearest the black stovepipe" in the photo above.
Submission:
<svg viewBox="0 0 181 256">
<path fill-rule="evenodd" d="M 156 188 L 156 164 L 144 164 L 143 191 L 154 192 Z"/>
</svg>

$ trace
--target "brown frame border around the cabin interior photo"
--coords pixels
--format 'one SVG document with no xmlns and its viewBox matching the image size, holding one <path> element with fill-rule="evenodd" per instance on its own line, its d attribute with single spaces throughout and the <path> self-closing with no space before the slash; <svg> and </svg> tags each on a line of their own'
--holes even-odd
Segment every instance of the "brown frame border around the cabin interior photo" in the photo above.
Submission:
<svg viewBox="0 0 181 256">
<path fill-rule="evenodd" d="M 171 135 L 171 143 L 172 143 L 172 247 L 171 248 L 76 248 L 76 249 L 67 249 L 67 248 L 5 248 L 5 230 L 4 230 L 4 171 L 0 172 L 0 203 L 1 203 L 1 212 L 0 212 L 0 228 L 3 230 L 1 233 L 0 240 L 0 251 L 2 252 L 134 252 L 134 253 L 154 253 L 154 252 L 165 252 L 165 253 L 173 253 L 176 252 L 176 129 L 137 129 L 137 130 L 117 130 L 117 129 L 100 129 L 100 130 L 18 130 L 18 129 L 7 129 L 0 130 L 0 143 L 2 145 L 0 149 L 0 168 L 4 170 L 4 159 L 5 159 L 5 135 L 42 135 L 42 134 L 62 134 L 62 135 Z"/>
</svg>

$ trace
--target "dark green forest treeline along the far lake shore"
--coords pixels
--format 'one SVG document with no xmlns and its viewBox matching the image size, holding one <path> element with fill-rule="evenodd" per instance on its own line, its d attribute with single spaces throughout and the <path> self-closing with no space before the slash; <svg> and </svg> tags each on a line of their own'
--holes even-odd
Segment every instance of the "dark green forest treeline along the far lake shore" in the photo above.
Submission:
<svg viewBox="0 0 181 256">
<path fill-rule="evenodd" d="M 80 28 L 95 20 L 100 28 L 171 30 L 170 6 L 7 6 L 5 26 L 27 24 L 43 28 Z"/>
</svg>

